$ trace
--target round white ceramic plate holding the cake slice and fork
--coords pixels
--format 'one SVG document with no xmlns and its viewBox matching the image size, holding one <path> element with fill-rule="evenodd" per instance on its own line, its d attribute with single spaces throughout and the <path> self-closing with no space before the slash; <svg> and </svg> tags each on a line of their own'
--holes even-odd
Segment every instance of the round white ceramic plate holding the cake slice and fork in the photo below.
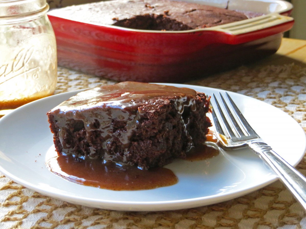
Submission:
<svg viewBox="0 0 306 229">
<path fill-rule="evenodd" d="M 193 85 L 208 95 L 218 89 Z M 47 111 L 79 91 L 62 93 L 26 104 L 0 119 L 0 171 L 15 182 L 63 201 L 90 207 L 159 211 L 210 205 L 236 198 L 270 184 L 277 177 L 248 149 L 221 151 L 208 160 L 176 160 L 166 167 L 178 183 L 144 191 L 110 191 L 71 183 L 45 166 L 53 138 Z M 255 131 L 291 165 L 304 155 L 303 129 L 289 115 L 259 100 L 230 93 Z M 49 151 L 50 152 L 50 151 Z"/>
</svg>

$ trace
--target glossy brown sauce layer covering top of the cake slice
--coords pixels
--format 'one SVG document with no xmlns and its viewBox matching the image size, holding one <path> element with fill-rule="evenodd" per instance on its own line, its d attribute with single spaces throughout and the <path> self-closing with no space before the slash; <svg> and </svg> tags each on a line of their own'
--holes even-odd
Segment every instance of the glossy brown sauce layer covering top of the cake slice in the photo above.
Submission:
<svg viewBox="0 0 306 229">
<path fill-rule="evenodd" d="M 142 82 L 120 82 L 84 90 L 54 107 L 52 111 L 58 110 L 57 112 L 61 114 L 70 110 L 84 110 L 97 106 L 137 111 L 138 107 L 155 104 L 158 99 L 179 100 L 181 104 L 187 105 L 195 96 L 196 91 L 190 88 Z"/>
</svg>

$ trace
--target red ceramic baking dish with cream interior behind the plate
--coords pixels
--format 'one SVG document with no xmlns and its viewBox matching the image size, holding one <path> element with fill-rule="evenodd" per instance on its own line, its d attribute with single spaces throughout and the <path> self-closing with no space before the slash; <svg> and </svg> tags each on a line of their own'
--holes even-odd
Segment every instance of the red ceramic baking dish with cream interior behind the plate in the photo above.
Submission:
<svg viewBox="0 0 306 229">
<path fill-rule="evenodd" d="M 226 7 L 264 15 L 187 31 L 92 24 L 58 16 L 56 9 L 48 16 L 60 66 L 117 81 L 184 82 L 275 53 L 294 23 L 292 5 L 282 0 L 232 0 Z"/>
</svg>

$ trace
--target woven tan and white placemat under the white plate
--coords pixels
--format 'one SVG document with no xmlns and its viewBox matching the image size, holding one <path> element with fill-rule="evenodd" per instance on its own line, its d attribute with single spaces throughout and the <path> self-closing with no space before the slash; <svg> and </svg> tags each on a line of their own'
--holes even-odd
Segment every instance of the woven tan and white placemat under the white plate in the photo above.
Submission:
<svg viewBox="0 0 306 229">
<path fill-rule="evenodd" d="M 58 68 L 55 93 L 114 81 Z M 240 67 L 188 84 L 226 89 L 262 100 L 291 115 L 306 131 L 306 67 Z M 285 136 L 284 136 L 285 137 Z M 296 143 L 298 144 L 298 143 Z M 306 174 L 305 157 L 297 169 Z M 0 174 L 0 228 L 306 228 L 306 214 L 276 181 L 240 198 L 176 211 L 93 209 L 41 195 Z"/>
</svg>

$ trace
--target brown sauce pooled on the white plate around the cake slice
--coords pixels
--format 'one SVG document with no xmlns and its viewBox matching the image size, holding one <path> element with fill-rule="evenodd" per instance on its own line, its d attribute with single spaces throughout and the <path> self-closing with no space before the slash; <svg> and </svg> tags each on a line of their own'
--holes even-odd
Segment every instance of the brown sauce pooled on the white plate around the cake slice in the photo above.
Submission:
<svg viewBox="0 0 306 229">
<path fill-rule="evenodd" d="M 216 142 L 210 131 L 207 141 Z M 54 148 L 47 168 L 54 174 L 71 182 L 114 191 L 148 190 L 174 185 L 178 182 L 175 174 L 167 168 L 138 169 L 136 166 L 118 165 L 103 160 L 75 160 L 71 155 L 57 155 Z M 211 146 L 199 145 L 188 152 L 186 160 L 199 161 L 214 157 L 219 151 Z"/>
</svg>

